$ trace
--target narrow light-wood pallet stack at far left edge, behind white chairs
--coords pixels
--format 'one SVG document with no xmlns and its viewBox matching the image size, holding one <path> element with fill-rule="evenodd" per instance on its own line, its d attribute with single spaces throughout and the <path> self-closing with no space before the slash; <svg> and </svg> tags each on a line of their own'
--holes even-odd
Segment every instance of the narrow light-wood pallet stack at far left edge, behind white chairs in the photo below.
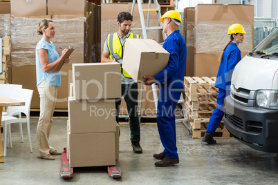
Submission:
<svg viewBox="0 0 278 185">
<path fill-rule="evenodd" d="M 2 37 L 2 74 L 0 84 L 8 84 L 8 61 L 10 60 L 10 37 Z"/>
</svg>

